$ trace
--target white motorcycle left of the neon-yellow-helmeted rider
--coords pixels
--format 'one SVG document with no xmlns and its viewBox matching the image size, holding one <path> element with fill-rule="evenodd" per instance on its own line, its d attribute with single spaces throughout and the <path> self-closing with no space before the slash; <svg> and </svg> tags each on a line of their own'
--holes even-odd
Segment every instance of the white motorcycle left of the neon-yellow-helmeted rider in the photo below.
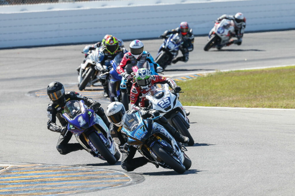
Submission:
<svg viewBox="0 0 295 196">
<path fill-rule="evenodd" d="M 81 63 L 81 68 L 78 76 L 78 87 L 82 91 L 85 87 L 89 87 L 96 82 L 99 82 L 99 71 L 95 69 L 95 65 L 98 58 L 99 48 L 87 52 L 88 56 L 85 58 L 85 62 Z"/>
</svg>

